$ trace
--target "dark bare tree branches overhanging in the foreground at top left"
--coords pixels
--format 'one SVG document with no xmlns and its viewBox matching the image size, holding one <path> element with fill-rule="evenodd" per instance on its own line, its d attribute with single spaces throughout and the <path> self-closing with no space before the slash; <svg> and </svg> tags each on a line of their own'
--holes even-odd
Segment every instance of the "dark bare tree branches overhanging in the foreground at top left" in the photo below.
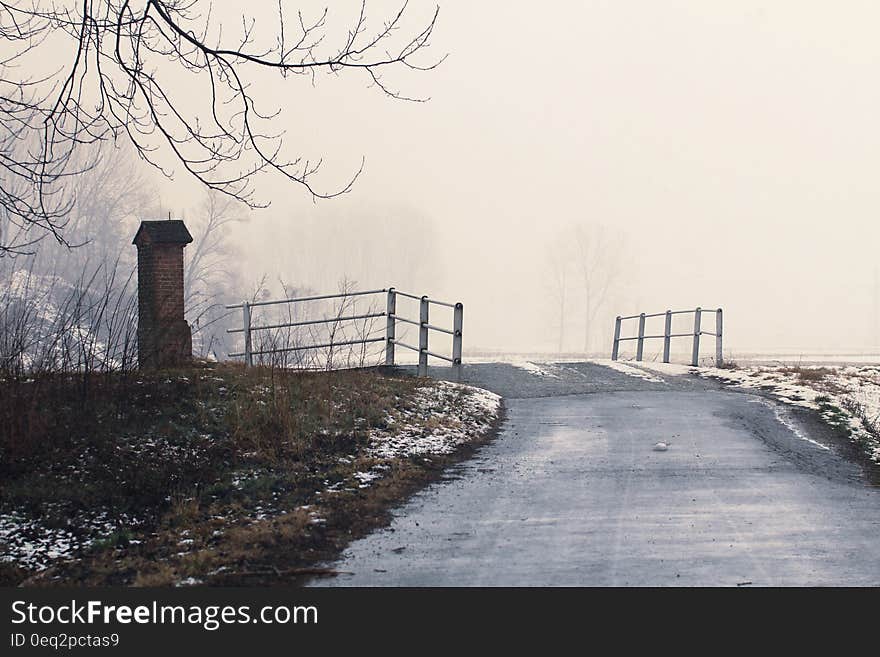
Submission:
<svg viewBox="0 0 880 657">
<path fill-rule="evenodd" d="M 364 2 L 334 37 L 327 10 L 292 16 L 282 0 L 264 21 L 271 34 L 254 16 L 224 24 L 222 8 L 206 0 L 0 0 L 0 208 L 19 228 L 39 229 L 17 241 L 0 236 L 0 253 L 26 250 L 47 234 L 65 241 L 65 190 L 92 166 L 73 154 L 107 139 L 127 140 L 166 175 L 182 166 L 254 207 L 265 205 L 252 184 L 262 173 L 313 197 L 348 191 L 360 170 L 340 186 L 318 188 L 320 160 L 285 155 L 280 109 L 258 104 L 252 85 L 259 71 L 312 83 L 321 72 L 348 71 L 393 98 L 423 100 L 385 79 L 388 70 L 442 61 L 421 57 L 439 10 L 411 27 L 407 9 L 404 2 L 374 23 Z"/>
</svg>

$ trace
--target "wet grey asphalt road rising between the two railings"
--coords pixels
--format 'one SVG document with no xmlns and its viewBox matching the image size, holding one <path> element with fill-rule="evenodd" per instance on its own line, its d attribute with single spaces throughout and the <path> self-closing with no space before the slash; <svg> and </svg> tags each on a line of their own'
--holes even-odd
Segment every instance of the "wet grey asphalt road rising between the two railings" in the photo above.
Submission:
<svg viewBox="0 0 880 657">
<path fill-rule="evenodd" d="M 805 414 L 598 365 L 466 378 L 505 396 L 497 439 L 314 585 L 880 584 L 880 488 Z"/>
</svg>

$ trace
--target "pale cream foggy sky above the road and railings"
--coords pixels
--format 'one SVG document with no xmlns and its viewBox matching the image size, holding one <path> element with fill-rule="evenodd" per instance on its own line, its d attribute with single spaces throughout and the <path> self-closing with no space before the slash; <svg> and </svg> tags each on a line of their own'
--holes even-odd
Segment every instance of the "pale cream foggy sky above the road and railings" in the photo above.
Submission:
<svg viewBox="0 0 880 657">
<path fill-rule="evenodd" d="M 264 183 L 272 207 L 237 230 L 240 266 L 325 284 L 371 235 L 362 287 L 463 301 L 466 351 L 553 350 L 547 251 L 586 222 L 626 238 L 607 330 L 720 305 L 734 354 L 876 349 L 878 24 L 871 2 L 443 2 L 432 51 L 447 61 L 389 74 L 430 102 L 354 75 L 267 85 L 286 147 L 323 157 L 322 180 L 366 165 L 317 205 Z M 186 207 L 186 188 L 164 185 L 167 204 Z M 383 248 L 377 217 L 409 214 L 430 239 Z M 306 268 L 296 245 L 326 221 L 337 237 Z M 424 254 L 420 273 L 388 264 L 399 249 Z"/>
</svg>

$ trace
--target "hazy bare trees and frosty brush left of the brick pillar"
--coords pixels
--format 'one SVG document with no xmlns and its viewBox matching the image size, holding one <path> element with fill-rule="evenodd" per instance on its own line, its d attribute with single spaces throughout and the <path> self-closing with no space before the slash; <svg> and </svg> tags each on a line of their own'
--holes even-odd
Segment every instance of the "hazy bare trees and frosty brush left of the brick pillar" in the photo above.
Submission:
<svg viewBox="0 0 880 657">
<path fill-rule="evenodd" d="M 103 144 L 100 155 L 80 174 L 81 193 L 66 218 L 68 235 L 83 248 L 47 241 L 27 246 L 28 257 L 0 258 L 0 372 L 88 373 L 136 363 L 130 242 L 153 195 L 130 150 Z M 16 237 L 23 229 L 0 212 L 0 230 Z"/>
</svg>

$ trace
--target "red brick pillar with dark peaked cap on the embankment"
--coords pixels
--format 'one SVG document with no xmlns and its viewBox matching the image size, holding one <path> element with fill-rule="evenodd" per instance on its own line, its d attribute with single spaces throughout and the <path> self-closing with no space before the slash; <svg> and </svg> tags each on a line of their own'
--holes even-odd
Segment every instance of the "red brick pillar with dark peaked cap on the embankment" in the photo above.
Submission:
<svg viewBox="0 0 880 657">
<path fill-rule="evenodd" d="M 183 318 L 183 248 L 192 236 L 179 220 L 142 221 L 138 249 L 138 364 L 141 369 L 192 360 L 192 332 Z"/>
</svg>

